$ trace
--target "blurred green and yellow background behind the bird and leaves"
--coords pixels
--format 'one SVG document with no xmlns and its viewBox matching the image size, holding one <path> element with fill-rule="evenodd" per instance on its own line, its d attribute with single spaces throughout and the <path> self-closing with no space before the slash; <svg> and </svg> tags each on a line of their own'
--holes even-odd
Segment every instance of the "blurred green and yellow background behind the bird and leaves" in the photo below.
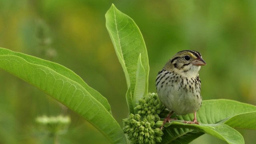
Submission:
<svg viewBox="0 0 256 144">
<path fill-rule="evenodd" d="M 256 105 L 255 0 L 0 0 L 0 47 L 51 60 L 105 96 L 116 120 L 128 116 L 126 82 L 105 27 L 114 3 L 139 26 L 150 64 L 149 92 L 166 61 L 180 50 L 199 51 L 202 96 Z M 35 118 L 69 115 L 63 144 L 109 144 L 91 124 L 30 84 L 0 70 L 0 144 L 52 143 Z M 256 132 L 238 130 L 246 144 Z M 192 144 L 224 143 L 204 135 Z"/>
</svg>

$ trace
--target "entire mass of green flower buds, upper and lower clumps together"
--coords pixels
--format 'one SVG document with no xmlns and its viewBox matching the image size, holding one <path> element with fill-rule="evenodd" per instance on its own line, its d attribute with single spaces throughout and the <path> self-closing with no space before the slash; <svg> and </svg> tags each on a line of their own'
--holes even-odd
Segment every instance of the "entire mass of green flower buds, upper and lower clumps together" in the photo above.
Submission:
<svg viewBox="0 0 256 144">
<path fill-rule="evenodd" d="M 163 132 L 160 126 L 163 121 L 160 121 L 158 114 L 163 108 L 157 94 L 149 93 L 134 108 L 136 114 L 130 114 L 129 118 L 123 119 L 124 133 L 133 144 L 156 144 L 162 141 Z"/>
</svg>

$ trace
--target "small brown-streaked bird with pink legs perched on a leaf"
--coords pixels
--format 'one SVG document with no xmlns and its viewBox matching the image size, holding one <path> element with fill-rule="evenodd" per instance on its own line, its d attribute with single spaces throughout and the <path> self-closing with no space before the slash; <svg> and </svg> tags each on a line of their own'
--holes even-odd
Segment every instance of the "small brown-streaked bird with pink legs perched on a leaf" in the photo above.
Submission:
<svg viewBox="0 0 256 144">
<path fill-rule="evenodd" d="M 198 72 L 206 65 L 199 52 L 183 50 L 176 53 L 156 77 L 156 90 L 160 101 L 170 110 L 163 125 L 175 112 L 177 115 L 194 113 L 194 120 L 187 124 L 199 124 L 196 112 L 202 105 L 201 81 Z"/>
</svg>

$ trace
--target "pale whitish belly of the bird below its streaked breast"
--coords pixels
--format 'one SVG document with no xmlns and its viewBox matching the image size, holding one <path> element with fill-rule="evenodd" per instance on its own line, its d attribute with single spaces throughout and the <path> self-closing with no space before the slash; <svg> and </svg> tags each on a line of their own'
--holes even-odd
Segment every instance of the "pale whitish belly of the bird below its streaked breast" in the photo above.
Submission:
<svg viewBox="0 0 256 144">
<path fill-rule="evenodd" d="M 165 80 L 167 84 L 161 86 L 163 80 L 160 80 L 156 89 L 159 99 L 168 110 L 174 111 L 177 115 L 186 115 L 199 110 L 202 104 L 200 82 L 198 82 L 199 90 L 196 90 L 195 85 L 192 86 L 194 89 L 186 85 L 186 80 L 176 82 Z"/>
</svg>

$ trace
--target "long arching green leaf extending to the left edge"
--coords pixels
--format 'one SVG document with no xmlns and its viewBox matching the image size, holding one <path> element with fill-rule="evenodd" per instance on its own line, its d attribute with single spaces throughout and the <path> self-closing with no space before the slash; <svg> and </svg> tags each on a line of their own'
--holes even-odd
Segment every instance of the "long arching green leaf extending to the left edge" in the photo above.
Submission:
<svg viewBox="0 0 256 144">
<path fill-rule="evenodd" d="M 112 143 L 126 143 L 107 100 L 74 72 L 56 64 L 0 48 L 0 68 L 44 91 L 95 126 Z"/>
</svg>

